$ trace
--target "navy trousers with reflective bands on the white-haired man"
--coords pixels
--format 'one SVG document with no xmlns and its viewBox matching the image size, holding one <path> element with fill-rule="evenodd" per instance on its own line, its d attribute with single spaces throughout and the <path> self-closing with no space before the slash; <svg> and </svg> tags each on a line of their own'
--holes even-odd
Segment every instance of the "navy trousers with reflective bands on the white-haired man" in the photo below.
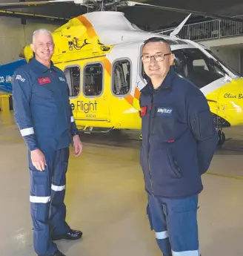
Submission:
<svg viewBox="0 0 243 256">
<path fill-rule="evenodd" d="M 67 225 L 64 196 L 69 148 L 45 154 L 47 166 L 38 171 L 28 154 L 30 168 L 30 212 L 33 220 L 33 244 L 37 255 L 50 256 L 56 252 L 51 234 L 64 234 Z"/>
</svg>

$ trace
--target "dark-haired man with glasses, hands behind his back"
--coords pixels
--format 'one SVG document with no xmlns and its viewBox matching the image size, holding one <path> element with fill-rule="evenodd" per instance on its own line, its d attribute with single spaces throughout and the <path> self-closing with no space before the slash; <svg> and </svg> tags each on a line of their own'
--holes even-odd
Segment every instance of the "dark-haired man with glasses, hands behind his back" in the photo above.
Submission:
<svg viewBox="0 0 243 256">
<path fill-rule="evenodd" d="M 213 117 L 204 94 L 173 70 L 167 41 L 145 41 L 142 62 L 148 82 L 140 96 L 140 162 L 150 226 L 164 256 L 199 256 L 201 175 L 218 141 Z"/>
</svg>

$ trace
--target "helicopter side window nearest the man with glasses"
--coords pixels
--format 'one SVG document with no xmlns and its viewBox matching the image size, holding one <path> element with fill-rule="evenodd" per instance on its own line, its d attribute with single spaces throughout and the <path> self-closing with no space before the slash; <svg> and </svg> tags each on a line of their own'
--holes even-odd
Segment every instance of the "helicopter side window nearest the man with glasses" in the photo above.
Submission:
<svg viewBox="0 0 243 256">
<path fill-rule="evenodd" d="M 113 93 L 124 95 L 130 91 L 130 62 L 127 59 L 118 60 L 113 65 Z"/>
</svg>

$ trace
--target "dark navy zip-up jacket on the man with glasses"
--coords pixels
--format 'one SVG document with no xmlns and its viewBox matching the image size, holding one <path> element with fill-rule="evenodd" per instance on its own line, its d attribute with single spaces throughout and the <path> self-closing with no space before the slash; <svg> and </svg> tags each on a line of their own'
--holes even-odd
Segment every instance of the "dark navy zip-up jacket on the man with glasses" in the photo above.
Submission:
<svg viewBox="0 0 243 256">
<path fill-rule="evenodd" d="M 156 197 L 199 194 L 201 175 L 216 151 L 218 134 L 204 94 L 170 68 L 162 85 L 141 91 L 145 189 Z"/>
</svg>

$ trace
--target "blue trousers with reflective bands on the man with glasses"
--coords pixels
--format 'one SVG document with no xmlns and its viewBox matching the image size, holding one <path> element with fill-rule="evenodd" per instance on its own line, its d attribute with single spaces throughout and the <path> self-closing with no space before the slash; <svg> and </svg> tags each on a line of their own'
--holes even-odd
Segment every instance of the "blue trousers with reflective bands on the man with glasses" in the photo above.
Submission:
<svg viewBox="0 0 243 256">
<path fill-rule="evenodd" d="M 164 256 L 200 256 L 198 195 L 165 199 L 148 195 L 147 216 Z"/>
</svg>

